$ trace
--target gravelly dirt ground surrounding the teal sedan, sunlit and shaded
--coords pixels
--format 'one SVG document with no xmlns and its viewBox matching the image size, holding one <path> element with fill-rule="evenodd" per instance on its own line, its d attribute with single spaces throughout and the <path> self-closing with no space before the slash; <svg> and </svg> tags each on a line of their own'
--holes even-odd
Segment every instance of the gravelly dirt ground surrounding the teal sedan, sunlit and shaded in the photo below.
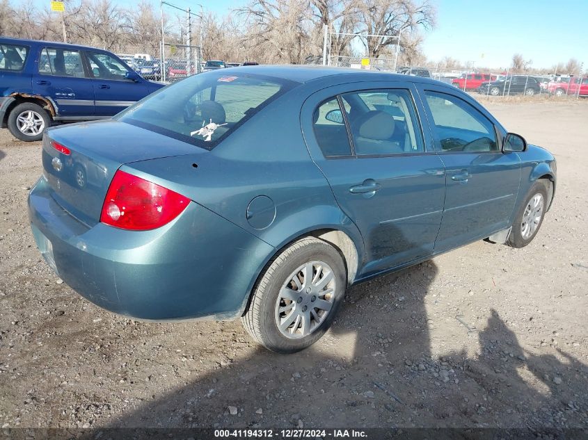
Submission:
<svg viewBox="0 0 588 440">
<path fill-rule="evenodd" d="M 353 287 L 289 356 L 239 321 L 136 322 L 61 284 L 27 220 L 40 145 L 0 130 L 0 426 L 587 427 L 588 101 L 487 106 L 557 157 L 537 238 Z"/>
</svg>

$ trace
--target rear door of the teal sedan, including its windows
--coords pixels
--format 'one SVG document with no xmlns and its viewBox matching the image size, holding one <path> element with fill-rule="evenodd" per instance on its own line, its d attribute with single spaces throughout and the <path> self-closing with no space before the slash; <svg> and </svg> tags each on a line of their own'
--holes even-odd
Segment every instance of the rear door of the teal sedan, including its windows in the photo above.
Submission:
<svg viewBox="0 0 588 440">
<path fill-rule="evenodd" d="M 355 83 L 321 90 L 303 106 L 313 160 L 365 243 L 360 276 L 433 252 L 445 170 L 427 149 L 410 83 Z"/>
</svg>

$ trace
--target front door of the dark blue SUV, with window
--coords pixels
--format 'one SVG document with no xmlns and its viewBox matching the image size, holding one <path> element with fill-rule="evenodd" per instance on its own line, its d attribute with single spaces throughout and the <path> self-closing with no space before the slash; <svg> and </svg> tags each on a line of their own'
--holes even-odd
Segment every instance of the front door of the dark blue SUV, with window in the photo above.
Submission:
<svg viewBox="0 0 588 440">
<path fill-rule="evenodd" d="M 148 82 L 125 78 L 127 67 L 109 54 L 85 51 L 93 76 L 97 116 L 113 116 L 149 95 Z"/>
</svg>

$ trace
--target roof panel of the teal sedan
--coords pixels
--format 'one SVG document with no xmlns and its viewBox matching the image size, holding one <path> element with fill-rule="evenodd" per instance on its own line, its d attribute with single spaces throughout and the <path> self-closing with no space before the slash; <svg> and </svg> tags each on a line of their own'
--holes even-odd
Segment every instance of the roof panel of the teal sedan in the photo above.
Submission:
<svg viewBox="0 0 588 440">
<path fill-rule="evenodd" d="M 323 65 L 254 65 L 247 67 L 232 67 L 231 74 L 238 72 L 257 74 L 264 76 L 273 76 L 275 78 L 295 81 L 297 83 L 308 83 L 318 79 L 324 79 L 329 76 L 347 75 L 351 81 L 411 81 L 418 83 L 438 84 L 428 78 L 421 76 L 407 76 L 403 74 L 395 74 L 388 72 L 381 72 L 376 70 L 359 70 L 351 69 L 349 67 L 333 67 Z"/>
</svg>

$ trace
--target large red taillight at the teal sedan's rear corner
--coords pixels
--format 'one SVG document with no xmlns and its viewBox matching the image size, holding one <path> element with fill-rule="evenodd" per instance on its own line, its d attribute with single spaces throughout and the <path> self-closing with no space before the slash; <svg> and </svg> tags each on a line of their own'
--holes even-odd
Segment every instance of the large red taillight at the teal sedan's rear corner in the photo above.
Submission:
<svg viewBox="0 0 588 440">
<path fill-rule="evenodd" d="M 100 221 L 134 231 L 155 229 L 180 215 L 189 202 L 172 190 L 118 170 L 106 193 Z"/>
</svg>

